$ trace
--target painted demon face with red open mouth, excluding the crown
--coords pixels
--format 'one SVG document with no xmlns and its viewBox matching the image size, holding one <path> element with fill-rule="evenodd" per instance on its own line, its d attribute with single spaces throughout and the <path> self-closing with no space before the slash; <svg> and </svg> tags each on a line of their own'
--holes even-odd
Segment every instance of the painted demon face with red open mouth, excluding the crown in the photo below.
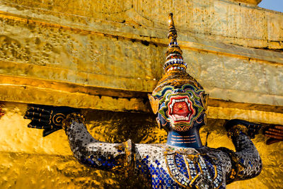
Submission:
<svg viewBox="0 0 283 189">
<path fill-rule="evenodd" d="M 151 107 L 158 114 L 158 125 L 167 131 L 177 132 L 205 125 L 207 97 L 203 88 L 195 86 L 192 81 L 180 86 L 163 86 L 157 93 L 149 95 Z"/>
</svg>

